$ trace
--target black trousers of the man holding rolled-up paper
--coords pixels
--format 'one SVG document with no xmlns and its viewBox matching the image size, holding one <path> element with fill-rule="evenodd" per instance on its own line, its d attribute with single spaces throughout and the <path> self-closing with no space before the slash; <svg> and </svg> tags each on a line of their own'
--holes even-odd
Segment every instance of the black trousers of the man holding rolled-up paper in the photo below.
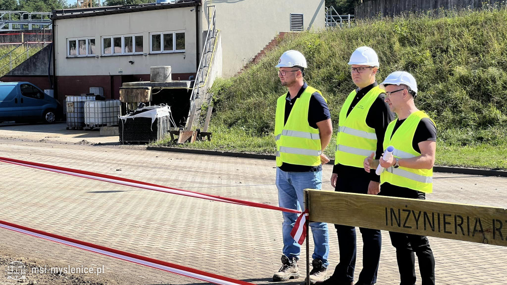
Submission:
<svg viewBox="0 0 507 285">
<path fill-rule="evenodd" d="M 390 197 L 401 197 L 411 199 L 425 199 L 422 192 L 411 189 L 400 189 L 397 187 L 380 188 L 381 195 Z M 420 235 L 389 232 L 391 243 L 396 248 L 396 261 L 400 270 L 400 285 L 414 285 L 415 275 L 415 256 L 419 261 L 419 270 L 421 271 L 422 285 L 435 284 L 435 259 L 433 252 L 429 247 L 428 238 Z"/>
</svg>

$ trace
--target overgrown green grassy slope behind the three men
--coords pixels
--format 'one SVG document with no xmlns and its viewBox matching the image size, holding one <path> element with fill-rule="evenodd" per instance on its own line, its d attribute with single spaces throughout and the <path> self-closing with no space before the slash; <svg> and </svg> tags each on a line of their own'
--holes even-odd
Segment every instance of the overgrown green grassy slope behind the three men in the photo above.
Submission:
<svg viewBox="0 0 507 285">
<path fill-rule="evenodd" d="M 274 152 L 276 98 L 286 92 L 274 66 L 289 49 L 306 56 L 305 80 L 328 99 L 336 128 L 341 105 L 354 88 L 347 62 L 363 45 L 379 55 L 378 81 L 394 70 L 406 70 L 417 79 L 416 105 L 437 123 L 438 164 L 507 169 L 502 151 L 507 141 L 505 7 L 447 12 L 438 18 L 358 21 L 350 29 L 289 35 L 241 75 L 215 81 L 213 140 L 185 147 Z M 326 153 L 332 155 L 332 149 L 334 141 Z"/>
</svg>

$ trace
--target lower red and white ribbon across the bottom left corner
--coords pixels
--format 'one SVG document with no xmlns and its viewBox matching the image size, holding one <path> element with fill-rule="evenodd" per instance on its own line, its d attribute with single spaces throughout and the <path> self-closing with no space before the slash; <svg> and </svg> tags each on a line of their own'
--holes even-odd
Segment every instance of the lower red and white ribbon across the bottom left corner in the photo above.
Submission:
<svg viewBox="0 0 507 285">
<path fill-rule="evenodd" d="M 220 285 L 253 285 L 252 283 L 249 283 L 249 282 L 245 282 L 245 281 L 241 281 L 241 280 L 237 280 L 237 279 L 233 279 L 233 278 L 201 271 L 201 270 L 190 268 L 190 267 L 172 264 L 169 262 L 165 262 L 165 261 L 161 261 L 161 260 L 157 260 L 157 259 L 153 259 L 153 258 L 149 258 L 149 257 L 135 255 L 135 254 L 127 253 L 127 252 L 122 252 L 119 250 L 115 250 L 114 248 L 109 248 L 109 247 L 96 245 L 93 243 L 84 242 L 81 240 L 72 239 L 72 238 L 68 238 L 68 237 L 64 237 L 64 236 L 60 236 L 60 235 L 56 235 L 56 234 L 52 234 L 52 233 L 48 233 L 48 232 L 30 229 L 27 227 L 15 225 L 15 224 L 4 222 L 4 221 L 0 221 L 0 228 L 8 229 L 11 231 L 31 235 L 31 236 L 46 239 L 46 240 L 51 240 L 51 241 L 65 244 L 68 246 L 81 248 L 82 250 L 85 250 L 85 251 L 89 251 L 89 252 L 93 252 L 93 253 L 109 256 L 109 257 L 114 257 L 117 259 L 129 261 L 132 263 L 137 263 L 140 265 L 160 269 L 163 271 L 187 276 L 190 278 L 194 278 L 194 279 L 198 279 L 198 280 L 202 280 L 202 281 L 206 281 L 206 282 L 211 282 L 211 283 L 220 284 Z"/>
</svg>

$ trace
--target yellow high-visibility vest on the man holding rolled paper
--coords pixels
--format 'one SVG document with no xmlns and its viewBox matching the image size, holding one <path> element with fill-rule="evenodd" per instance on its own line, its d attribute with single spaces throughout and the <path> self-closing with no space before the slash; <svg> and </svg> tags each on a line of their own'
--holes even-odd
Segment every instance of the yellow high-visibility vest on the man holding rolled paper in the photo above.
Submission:
<svg viewBox="0 0 507 285">
<path fill-rule="evenodd" d="M 412 147 L 412 140 L 423 118 L 429 118 L 423 111 L 417 111 L 405 119 L 402 125 L 396 129 L 394 134 L 392 131 L 396 121 L 392 121 L 385 131 L 384 150 L 389 146 L 394 147 L 392 155 L 397 158 L 412 158 L 420 156 Z M 431 120 L 431 119 L 430 119 Z M 435 123 L 431 120 L 433 124 Z M 436 124 L 435 124 L 436 126 Z M 392 136 L 392 138 L 391 138 Z M 409 188 L 412 190 L 431 193 L 433 192 L 433 168 L 431 169 L 413 169 L 408 167 L 389 167 L 380 174 L 380 184 L 389 183 L 392 185 Z"/>
</svg>

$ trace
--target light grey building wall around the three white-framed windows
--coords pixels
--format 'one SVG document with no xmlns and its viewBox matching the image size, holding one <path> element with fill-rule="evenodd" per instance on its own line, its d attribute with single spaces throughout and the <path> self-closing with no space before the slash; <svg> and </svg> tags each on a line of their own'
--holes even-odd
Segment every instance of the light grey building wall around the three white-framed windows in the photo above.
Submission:
<svg viewBox="0 0 507 285">
<path fill-rule="evenodd" d="M 195 73 L 196 12 L 173 8 L 105 16 L 59 19 L 55 23 L 57 76 L 149 74 L 150 66 L 171 65 L 173 73 Z M 185 52 L 150 54 L 150 32 L 185 31 Z M 143 34 L 145 55 L 102 56 L 103 36 Z M 67 58 L 67 39 L 95 38 L 96 57 Z M 134 61 L 130 64 L 129 61 Z M 119 73 L 122 68 L 122 74 Z"/>
</svg>

